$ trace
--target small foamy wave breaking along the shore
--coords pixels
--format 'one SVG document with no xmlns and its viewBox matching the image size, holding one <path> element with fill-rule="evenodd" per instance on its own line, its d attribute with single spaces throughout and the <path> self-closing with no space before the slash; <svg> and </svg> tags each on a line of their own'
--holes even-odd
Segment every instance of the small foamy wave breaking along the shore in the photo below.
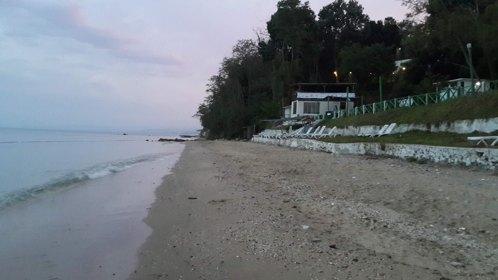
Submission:
<svg viewBox="0 0 498 280">
<path fill-rule="evenodd" d="M 84 170 L 70 172 L 62 177 L 50 180 L 48 183 L 41 186 L 35 186 L 11 193 L 7 193 L 0 197 L 0 209 L 11 206 L 17 202 L 25 201 L 33 197 L 37 197 L 43 192 L 56 190 L 61 187 L 80 183 L 86 180 L 101 178 L 116 172 L 124 171 L 136 165 L 162 161 L 168 155 L 152 155 L 142 156 L 124 160 L 116 160 L 92 166 Z"/>
</svg>

